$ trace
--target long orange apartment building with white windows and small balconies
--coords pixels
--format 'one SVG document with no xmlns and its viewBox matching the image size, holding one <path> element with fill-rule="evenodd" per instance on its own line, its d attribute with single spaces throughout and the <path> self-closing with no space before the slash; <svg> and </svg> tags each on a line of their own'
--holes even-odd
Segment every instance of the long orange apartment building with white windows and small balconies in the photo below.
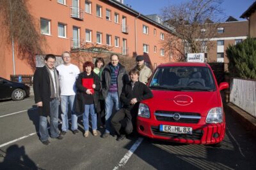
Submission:
<svg viewBox="0 0 256 170">
<path fill-rule="evenodd" d="M 79 52 L 84 50 L 84 46 L 102 45 L 111 48 L 108 53 L 119 53 L 127 57 L 147 53 L 147 62 L 153 67 L 170 61 L 171 54 L 163 46 L 166 35 L 174 36 L 170 27 L 132 10 L 123 1 L 27 2 L 29 13 L 35 18 L 36 28 L 47 41 L 45 53 L 60 56 L 64 51 Z M 12 48 L 1 41 L 0 50 L 4 52 L 0 76 L 9 79 L 10 74 L 13 74 Z M 36 54 L 35 57 L 42 55 Z M 15 55 L 15 74 L 33 74 L 34 69 Z"/>
</svg>

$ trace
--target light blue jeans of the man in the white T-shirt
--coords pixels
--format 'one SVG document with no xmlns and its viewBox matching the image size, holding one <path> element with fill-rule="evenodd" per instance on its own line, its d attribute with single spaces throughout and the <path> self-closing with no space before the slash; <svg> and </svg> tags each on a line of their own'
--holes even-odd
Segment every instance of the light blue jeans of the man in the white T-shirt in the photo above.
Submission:
<svg viewBox="0 0 256 170">
<path fill-rule="evenodd" d="M 61 99 L 61 119 L 62 119 L 62 125 L 61 125 L 61 131 L 68 131 L 68 103 L 71 110 L 71 130 L 75 131 L 77 129 L 77 115 L 74 111 L 74 101 L 75 101 L 76 95 L 71 96 L 60 96 Z"/>
</svg>

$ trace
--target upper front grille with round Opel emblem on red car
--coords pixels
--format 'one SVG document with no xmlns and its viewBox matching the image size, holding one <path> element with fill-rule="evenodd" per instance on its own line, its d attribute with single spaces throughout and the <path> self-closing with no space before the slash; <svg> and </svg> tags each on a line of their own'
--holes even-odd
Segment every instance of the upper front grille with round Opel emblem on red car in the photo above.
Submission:
<svg viewBox="0 0 256 170">
<path fill-rule="evenodd" d="M 175 116 L 179 114 L 179 120 L 175 120 Z M 185 113 L 177 111 L 156 111 L 154 113 L 156 119 L 159 121 L 166 122 L 179 122 L 179 123 L 189 123 L 189 124 L 198 124 L 201 116 L 200 113 Z"/>
</svg>

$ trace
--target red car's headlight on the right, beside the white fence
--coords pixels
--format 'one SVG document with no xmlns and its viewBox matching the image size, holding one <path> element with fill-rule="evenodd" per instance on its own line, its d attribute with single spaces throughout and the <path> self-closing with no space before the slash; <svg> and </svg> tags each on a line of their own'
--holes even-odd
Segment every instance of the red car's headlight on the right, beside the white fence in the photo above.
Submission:
<svg viewBox="0 0 256 170">
<path fill-rule="evenodd" d="M 206 123 L 217 124 L 223 121 L 223 111 L 222 108 L 212 108 L 206 117 Z"/>
</svg>

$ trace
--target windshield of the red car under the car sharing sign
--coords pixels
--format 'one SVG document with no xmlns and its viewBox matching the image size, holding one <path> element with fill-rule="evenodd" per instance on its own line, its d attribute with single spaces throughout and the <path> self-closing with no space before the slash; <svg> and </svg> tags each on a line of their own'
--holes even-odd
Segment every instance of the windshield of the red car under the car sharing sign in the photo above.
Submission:
<svg viewBox="0 0 256 170">
<path fill-rule="evenodd" d="M 216 90 L 209 67 L 175 66 L 159 67 L 155 72 L 150 88 L 163 90 Z"/>
</svg>

